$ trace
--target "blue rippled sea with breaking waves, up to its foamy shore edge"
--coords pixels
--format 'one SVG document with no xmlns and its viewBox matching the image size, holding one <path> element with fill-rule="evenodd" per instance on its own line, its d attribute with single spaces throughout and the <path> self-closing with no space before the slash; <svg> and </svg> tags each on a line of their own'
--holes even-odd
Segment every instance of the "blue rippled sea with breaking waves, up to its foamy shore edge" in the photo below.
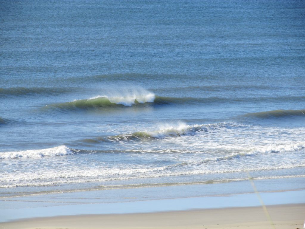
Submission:
<svg viewBox="0 0 305 229">
<path fill-rule="evenodd" d="M 304 1 L 0 5 L 2 199 L 249 176 L 304 188 Z"/>
</svg>

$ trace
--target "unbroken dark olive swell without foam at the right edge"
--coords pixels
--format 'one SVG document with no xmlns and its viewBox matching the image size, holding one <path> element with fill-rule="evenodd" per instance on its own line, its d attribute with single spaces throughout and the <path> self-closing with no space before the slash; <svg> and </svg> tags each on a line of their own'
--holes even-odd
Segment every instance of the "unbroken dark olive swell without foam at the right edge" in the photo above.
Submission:
<svg viewBox="0 0 305 229">
<path fill-rule="evenodd" d="M 260 119 L 270 119 L 270 118 L 288 118 L 288 117 L 305 117 L 305 109 L 303 110 L 274 110 L 274 111 L 263 111 L 256 113 L 248 113 L 242 115 L 245 118 L 260 118 Z"/>
</svg>

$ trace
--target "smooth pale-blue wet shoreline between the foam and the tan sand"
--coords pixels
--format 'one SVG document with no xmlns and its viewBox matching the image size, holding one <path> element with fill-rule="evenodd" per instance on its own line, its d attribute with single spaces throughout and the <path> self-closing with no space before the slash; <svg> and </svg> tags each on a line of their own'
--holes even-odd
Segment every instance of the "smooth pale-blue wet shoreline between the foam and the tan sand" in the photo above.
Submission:
<svg viewBox="0 0 305 229">
<path fill-rule="evenodd" d="M 288 182 L 289 181 L 289 182 Z M 286 180 L 285 186 L 300 186 L 303 178 Z M 305 189 L 280 191 L 281 180 L 256 184 L 258 193 L 231 194 L 241 191 L 249 182 L 231 184 L 185 185 L 138 189 L 114 189 L 78 193 L 44 194 L 0 199 L 0 222 L 38 217 L 141 214 L 188 211 L 191 209 L 222 209 L 261 207 L 264 205 L 305 204 Z M 264 187 L 264 191 L 262 188 Z M 276 189 L 272 187 L 277 187 Z M 221 195 L 218 191 L 228 190 Z M 269 190 L 269 191 L 268 191 Z M 202 196 L 195 196 L 195 195 Z M 205 195 L 203 195 L 205 194 Z M 218 194 L 218 195 L 217 195 Z M 0 224 L 1 225 L 1 224 Z M 1 227 L 0 227 L 1 228 Z"/>
</svg>

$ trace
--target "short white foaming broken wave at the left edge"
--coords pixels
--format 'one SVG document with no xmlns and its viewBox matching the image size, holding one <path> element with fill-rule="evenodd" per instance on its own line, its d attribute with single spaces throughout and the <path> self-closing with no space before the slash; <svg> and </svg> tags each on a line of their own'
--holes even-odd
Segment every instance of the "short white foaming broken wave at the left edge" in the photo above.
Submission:
<svg viewBox="0 0 305 229">
<path fill-rule="evenodd" d="M 1 159 L 15 159 L 15 158 L 41 158 L 41 157 L 52 157 L 69 155 L 74 152 L 66 146 L 58 146 L 53 148 L 47 148 L 42 150 L 26 150 L 26 151 L 16 151 L 16 152 L 2 152 L 0 153 Z"/>
</svg>

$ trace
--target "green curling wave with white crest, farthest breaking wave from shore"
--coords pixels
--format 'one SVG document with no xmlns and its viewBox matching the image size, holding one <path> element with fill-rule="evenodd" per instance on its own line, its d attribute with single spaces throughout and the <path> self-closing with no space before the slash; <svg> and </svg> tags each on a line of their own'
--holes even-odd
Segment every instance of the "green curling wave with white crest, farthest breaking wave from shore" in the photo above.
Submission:
<svg viewBox="0 0 305 229">
<path fill-rule="evenodd" d="M 132 93 L 125 93 L 118 96 L 95 96 L 90 99 L 74 100 L 72 102 L 51 104 L 46 107 L 57 109 L 87 109 L 94 107 L 118 107 L 132 105 L 153 103 L 155 94 L 146 90 L 133 91 Z"/>
</svg>

